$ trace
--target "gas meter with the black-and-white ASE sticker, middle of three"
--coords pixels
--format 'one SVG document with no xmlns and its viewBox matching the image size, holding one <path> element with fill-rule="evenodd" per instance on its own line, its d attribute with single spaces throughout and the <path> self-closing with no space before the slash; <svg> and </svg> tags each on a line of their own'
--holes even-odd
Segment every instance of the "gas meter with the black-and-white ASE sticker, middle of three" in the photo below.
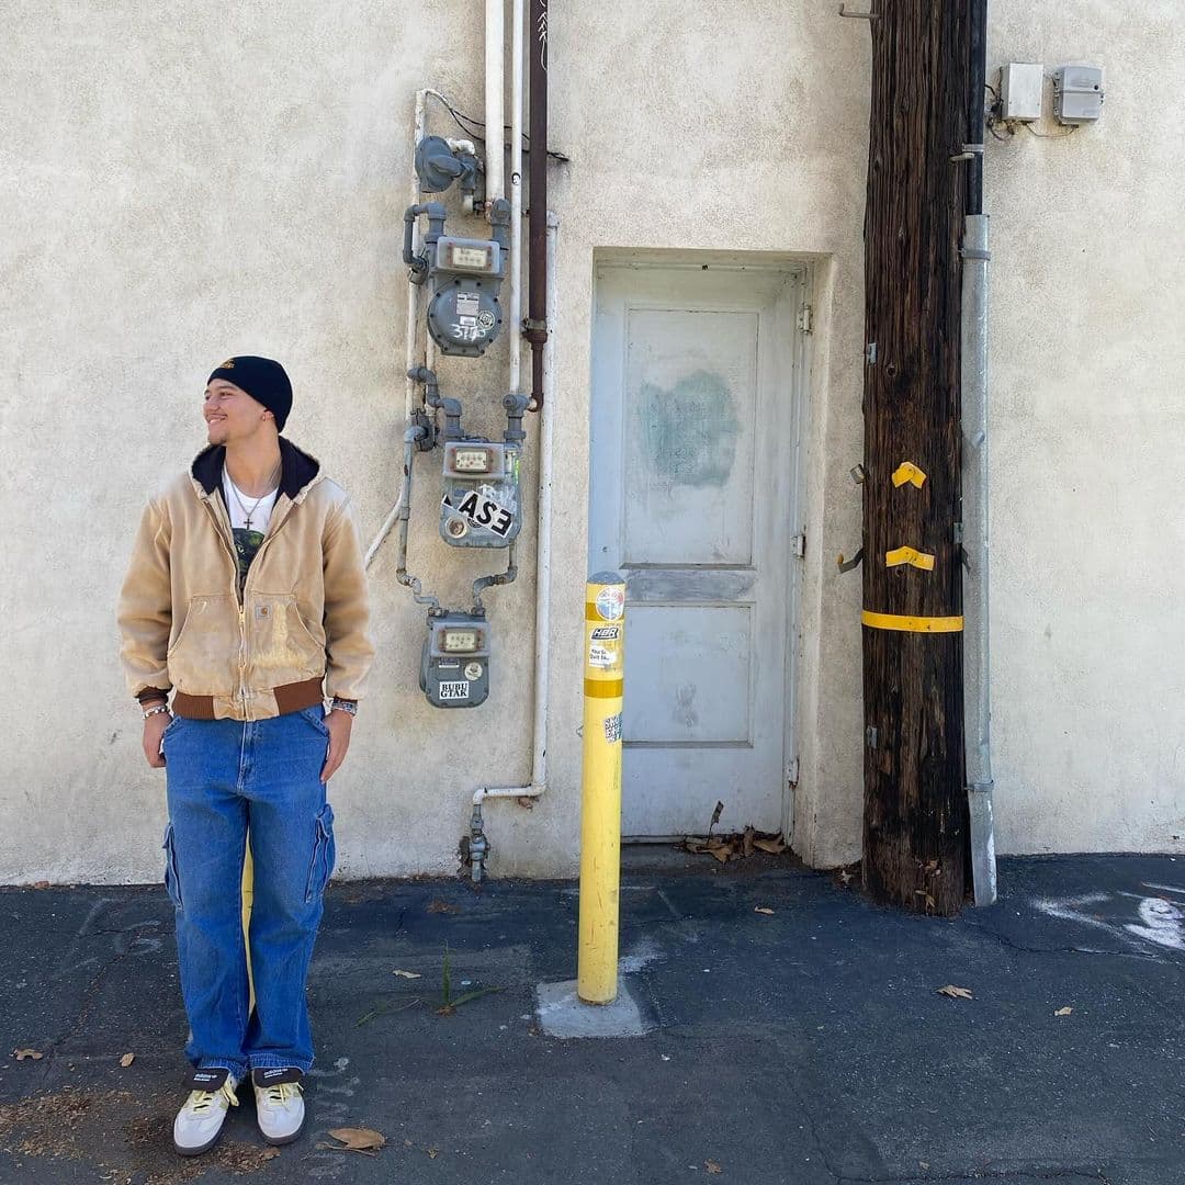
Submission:
<svg viewBox="0 0 1185 1185">
<path fill-rule="evenodd" d="M 523 526 L 519 444 L 446 441 L 441 538 L 454 547 L 506 547 Z"/>
</svg>

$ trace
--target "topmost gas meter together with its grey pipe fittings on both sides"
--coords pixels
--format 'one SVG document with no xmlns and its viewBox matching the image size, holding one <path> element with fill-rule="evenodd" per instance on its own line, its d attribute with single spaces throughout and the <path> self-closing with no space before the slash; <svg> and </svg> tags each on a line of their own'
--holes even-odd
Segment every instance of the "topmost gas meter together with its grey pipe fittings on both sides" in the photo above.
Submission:
<svg viewBox="0 0 1185 1185">
<path fill-rule="evenodd" d="M 428 214 L 429 230 L 424 251 L 417 256 L 411 236 L 421 213 Z M 403 257 L 416 283 L 425 278 L 433 282 L 428 332 L 442 354 L 478 358 L 502 326 L 498 293 L 510 239 L 510 203 L 505 198 L 491 204 L 489 220 L 492 238 L 460 238 L 444 233 L 444 207 L 438 203 L 410 206 L 404 214 Z"/>
</svg>

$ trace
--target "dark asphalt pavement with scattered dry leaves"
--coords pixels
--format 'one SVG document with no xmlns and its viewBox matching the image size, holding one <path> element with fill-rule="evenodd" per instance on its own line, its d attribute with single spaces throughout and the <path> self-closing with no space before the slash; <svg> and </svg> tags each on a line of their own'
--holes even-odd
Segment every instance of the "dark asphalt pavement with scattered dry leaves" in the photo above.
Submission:
<svg viewBox="0 0 1185 1185">
<path fill-rule="evenodd" d="M 194 1160 L 165 890 L 0 890 L 0 1181 L 1181 1185 L 1185 859 L 1008 859 L 1000 886 L 949 921 L 784 857 L 632 852 L 635 1035 L 561 1038 L 574 883 L 334 885 L 306 1135 L 267 1148 L 244 1090 Z"/>
</svg>

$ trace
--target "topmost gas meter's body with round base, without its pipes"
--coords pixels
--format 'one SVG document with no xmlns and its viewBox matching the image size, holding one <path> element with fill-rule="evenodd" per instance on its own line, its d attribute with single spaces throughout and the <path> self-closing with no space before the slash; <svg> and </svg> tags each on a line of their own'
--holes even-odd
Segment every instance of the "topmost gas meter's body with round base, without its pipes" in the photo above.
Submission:
<svg viewBox="0 0 1185 1185">
<path fill-rule="evenodd" d="M 476 358 L 502 325 L 498 289 L 502 282 L 501 244 L 489 238 L 436 241 L 430 261 L 435 289 L 428 305 L 428 332 L 442 354 Z"/>
</svg>

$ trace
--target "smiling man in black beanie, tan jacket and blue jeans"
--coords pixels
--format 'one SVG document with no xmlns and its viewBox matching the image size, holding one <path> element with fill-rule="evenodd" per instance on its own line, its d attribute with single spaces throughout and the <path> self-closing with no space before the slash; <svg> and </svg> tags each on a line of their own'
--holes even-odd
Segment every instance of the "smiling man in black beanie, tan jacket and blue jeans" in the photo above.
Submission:
<svg viewBox="0 0 1185 1185">
<path fill-rule="evenodd" d="M 182 1155 L 218 1139 L 248 1074 L 264 1139 L 301 1132 L 305 981 L 334 861 L 325 783 L 373 655 L 350 501 L 280 436 L 290 408 L 278 363 L 214 370 L 209 447 L 148 504 L 120 602 L 145 757 L 166 770 L 165 883 L 194 1066 L 173 1125 Z M 239 892 L 249 830 L 254 1011 Z"/>
</svg>

